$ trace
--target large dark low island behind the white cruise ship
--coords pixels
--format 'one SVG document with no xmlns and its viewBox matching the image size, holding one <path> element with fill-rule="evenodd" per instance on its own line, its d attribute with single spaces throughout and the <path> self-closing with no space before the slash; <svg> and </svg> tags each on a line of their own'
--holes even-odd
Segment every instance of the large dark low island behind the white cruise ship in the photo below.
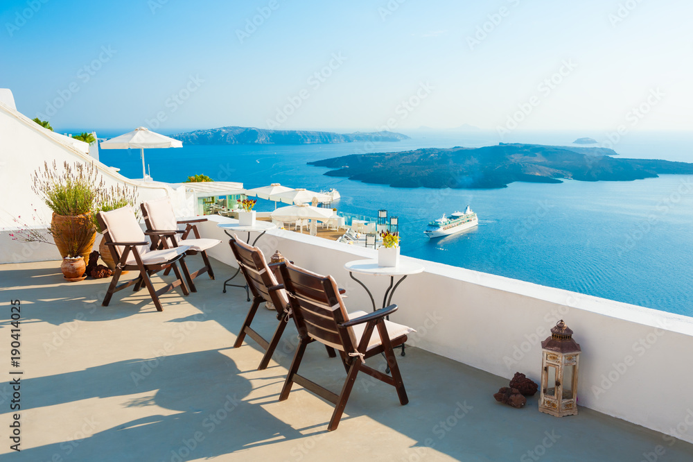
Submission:
<svg viewBox="0 0 693 462">
<path fill-rule="evenodd" d="M 424 148 L 401 153 L 354 154 L 308 162 L 347 177 L 392 187 L 503 188 L 511 182 L 630 181 L 658 173 L 692 174 L 693 164 L 614 158 L 608 148 L 506 144 L 482 148 Z"/>
</svg>

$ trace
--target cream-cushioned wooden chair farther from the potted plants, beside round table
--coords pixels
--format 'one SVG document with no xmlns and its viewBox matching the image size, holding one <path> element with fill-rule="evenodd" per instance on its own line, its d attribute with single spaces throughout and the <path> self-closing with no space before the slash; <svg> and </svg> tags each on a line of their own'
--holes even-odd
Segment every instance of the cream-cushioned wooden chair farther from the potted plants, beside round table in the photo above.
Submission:
<svg viewBox="0 0 693 462">
<path fill-rule="evenodd" d="M 207 249 L 216 246 L 221 241 L 219 239 L 201 239 L 196 225 L 196 223 L 202 223 L 207 221 L 207 219 L 177 220 L 168 196 L 143 202 L 140 204 L 140 208 L 147 225 L 147 231 L 156 233 L 152 234 L 152 250 L 188 246 L 186 255 L 197 255 L 198 253 L 202 255 L 204 266 L 190 273 L 188 285 L 191 291 L 198 291 L 193 283 L 195 277 L 209 273 L 209 277 L 214 279 L 214 271 L 212 271 L 212 266 L 209 264 Z M 179 230 L 178 225 L 186 225 L 185 230 Z M 191 232 L 194 237 L 190 237 Z M 161 238 L 159 238 L 159 235 Z M 168 275 L 169 272 L 170 268 L 164 272 L 164 275 Z"/>
</svg>

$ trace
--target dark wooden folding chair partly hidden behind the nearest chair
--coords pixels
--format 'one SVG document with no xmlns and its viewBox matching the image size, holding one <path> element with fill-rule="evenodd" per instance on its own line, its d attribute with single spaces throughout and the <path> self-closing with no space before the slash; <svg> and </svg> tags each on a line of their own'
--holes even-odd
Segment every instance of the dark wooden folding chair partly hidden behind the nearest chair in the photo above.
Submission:
<svg viewBox="0 0 693 462">
<path fill-rule="evenodd" d="M 243 340 L 246 335 L 256 341 L 258 345 L 265 350 L 265 355 L 258 366 L 258 370 L 263 370 L 267 368 L 267 364 L 270 363 L 272 354 L 274 354 L 274 350 L 277 349 L 279 340 L 281 340 L 281 334 L 283 334 L 284 329 L 286 329 L 286 324 L 292 317 L 286 292 L 283 289 L 283 285 L 277 282 L 277 275 L 274 273 L 274 271 L 278 270 L 279 265 L 274 264 L 272 265 L 273 268 L 270 269 L 270 266 L 267 266 L 265 262 L 265 256 L 262 250 L 250 246 L 241 239 L 229 239 L 229 246 L 231 246 L 231 251 L 233 251 L 236 257 L 240 271 L 243 272 L 250 293 L 252 293 L 253 296 L 252 305 L 250 306 L 247 316 L 245 316 L 243 327 L 240 328 L 238 338 L 236 338 L 236 343 L 234 343 L 234 348 L 243 345 Z M 274 334 L 270 341 L 265 340 L 263 336 L 250 327 L 258 311 L 258 307 L 260 307 L 262 302 L 272 303 L 274 309 L 277 310 L 279 325 L 277 325 L 277 329 L 274 330 Z M 337 356 L 335 350 L 332 348 L 327 348 L 327 352 L 330 357 Z"/>
</svg>

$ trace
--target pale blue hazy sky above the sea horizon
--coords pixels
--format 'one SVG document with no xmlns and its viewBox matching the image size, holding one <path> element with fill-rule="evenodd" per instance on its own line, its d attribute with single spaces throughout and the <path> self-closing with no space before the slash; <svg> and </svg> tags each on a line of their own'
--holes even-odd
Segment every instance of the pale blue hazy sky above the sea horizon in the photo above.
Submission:
<svg viewBox="0 0 693 462">
<path fill-rule="evenodd" d="M 690 0 L 4 0 L 56 128 L 690 130 Z"/>
</svg>

